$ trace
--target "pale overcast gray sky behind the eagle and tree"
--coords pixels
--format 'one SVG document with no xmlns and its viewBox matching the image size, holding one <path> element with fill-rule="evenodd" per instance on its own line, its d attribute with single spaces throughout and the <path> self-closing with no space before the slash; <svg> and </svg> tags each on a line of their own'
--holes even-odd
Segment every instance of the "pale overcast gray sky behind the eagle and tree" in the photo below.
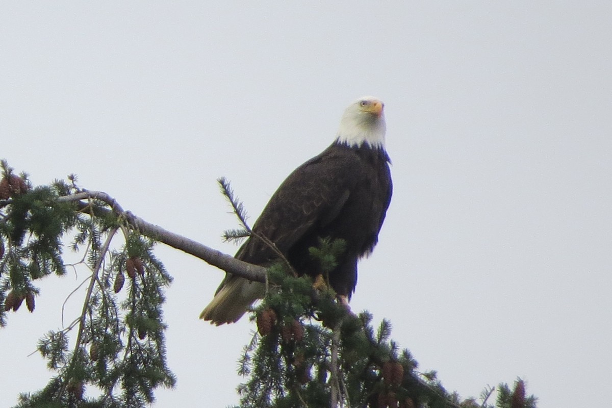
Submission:
<svg viewBox="0 0 612 408">
<path fill-rule="evenodd" d="M 227 253 L 226 176 L 251 220 L 335 136 L 386 103 L 395 191 L 356 311 L 449 390 L 517 376 L 540 408 L 605 407 L 612 383 L 612 2 L 2 2 L 0 157 L 69 173 Z M 247 319 L 198 321 L 222 272 L 159 246 L 176 390 L 237 402 Z M 34 351 L 86 277 L 43 282 L 0 330 L 0 408 L 51 373 Z M 72 321 L 82 296 L 69 301 Z M 9 369 L 10 367 L 10 369 Z M 11 374 L 7 374 L 11 373 Z"/>
</svg>

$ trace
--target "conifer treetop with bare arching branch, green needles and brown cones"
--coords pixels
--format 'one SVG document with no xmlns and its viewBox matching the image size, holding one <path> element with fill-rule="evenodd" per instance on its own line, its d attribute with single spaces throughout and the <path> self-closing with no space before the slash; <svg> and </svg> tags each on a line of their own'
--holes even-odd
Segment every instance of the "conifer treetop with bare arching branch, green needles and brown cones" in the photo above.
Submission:
<svg viewBox="0 0 612 408">
<path fill-rule="evenodd" d="M 66 273 L 66 239 L 91 272 L 80 316 L 41 333 L 37 350 L 54 376 L 42 390 L 21 394 L 17 407 L 144 407 L 157 387 L 173 387 L 163 320 L 172 278 L 152 251 L 155 242 L 266 283 L 250 317 L 256 330 L 239 358 L 241 408 L 535 407 L 520 379 L 512 388 L 499 385 L 494 404 L 488 401 L 494 388 L 480 401 L 449 393 L 435 372 L 419 372 L 408 349 L 390 339 L 390 322 L 375 328 L 371 314 L 350 313 L 335 302 L 325 276 L 323 282 L 296 276 L 282 256 L 269 269 L 250 265 L 135 217 L 111 196 L 78 187 L 75 176 L 34 187 L 27 174 L 18 176 L 6 161 L 1 166 L 0 326 L 23 303 L 35 311 L 38 280 Z M 219 182 L 241 224 L 226 239 L 249 236 L 242 204 L 226 180 Z M 323 239 L 311 254 L 330 270 L 343 246 Z M 89 387 L 99 396 L 89 396 Z"/>
</svg>

